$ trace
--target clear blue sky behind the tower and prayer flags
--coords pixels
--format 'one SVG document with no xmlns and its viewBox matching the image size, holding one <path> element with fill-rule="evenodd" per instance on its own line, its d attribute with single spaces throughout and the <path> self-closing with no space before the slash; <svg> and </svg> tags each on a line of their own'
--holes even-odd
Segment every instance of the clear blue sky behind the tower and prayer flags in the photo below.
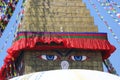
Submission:
<svg viewBox="0 0 120 80">
<path fill-rule="evenodd" d="M 92 7 L 92 5 L 89 3 L 88 0 L 83 0 L 87 8 L 90 9 L 91 15 L 94 17 L 95 25 L 98 26 L 99 32 L 106 32 L 108 33 L 108 40 L 109 42 L 116 47 L 116 51 L 111 55 L 109 58 L 112 62 L 112 65 L 116 69 L 117 73 L 120 75 L 120 43 L 116 41 L 116 39 L 113 37 L 110 30 L 105 26 L 104 22 L 98 17 L 95 9 Z M 97 2 L 97 0 L 94 1 L 95 5 L 97 6 L 98 10 L 100 11 L 101 15 L 104 16 L 104 19 L 108 22 L 110 25 L 112 31 L 116 34 L 118 39 L 120 39 L 120 25 L 118 25 L 113 18 L 109 14 L 107 14 L 106 10 L 101 7 L 101 5 Z M 111 0 L 110 0 L 111 1 Z M 16 15 L 20 11 L 20 5 L 22 0 L 19 0 L 19 3 L 17 4 L 17 9 L 15 10 L 13 16 L 10 19 L 9 24 L 7 25 L 7 28 L 5 29 L 3 36 L 0 38 L 0 50 L 2 49 L 2 46 L 4 45 L 4 49 L 0 52 L 0 67 L 3 65 L 4 57 L 6 56 L 6 49 L 9 48 L 12 44 L 13 34 L 16 29 L 14 27 L 14 23 L 16 20 Z M 120 5 L 120 0 L 114 0 L 118 5 Z M 118 3 L 119 2 L 119 3 Z M 118 12 L 120 12 L 120 8 L 116 8 Z M 120 20 L 120 19 L 119 19 Z M 7 41 L 7 43 L 5 42 Z"/>
</svg>

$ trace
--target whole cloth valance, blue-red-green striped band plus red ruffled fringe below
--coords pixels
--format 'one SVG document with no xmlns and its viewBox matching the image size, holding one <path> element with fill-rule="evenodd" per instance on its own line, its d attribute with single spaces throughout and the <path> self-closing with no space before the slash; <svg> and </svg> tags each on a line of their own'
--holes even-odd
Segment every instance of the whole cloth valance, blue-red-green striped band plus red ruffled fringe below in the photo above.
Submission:
<svg viewBox="0 0 120 80">
<path fill-rule="evenodd" d="M 107 59 L 115 47 L 107 40 L 106 33 L 80 32 L 19 32 L 13 45 L 8 49 L 4 65 L 0 69 L 0 78 L 5 79 L 8 67 L 14 63 L 22 50 L 51 50 L 74 48 L 80 50 L 99 50 L 103 59 Z"/>
</svg>

